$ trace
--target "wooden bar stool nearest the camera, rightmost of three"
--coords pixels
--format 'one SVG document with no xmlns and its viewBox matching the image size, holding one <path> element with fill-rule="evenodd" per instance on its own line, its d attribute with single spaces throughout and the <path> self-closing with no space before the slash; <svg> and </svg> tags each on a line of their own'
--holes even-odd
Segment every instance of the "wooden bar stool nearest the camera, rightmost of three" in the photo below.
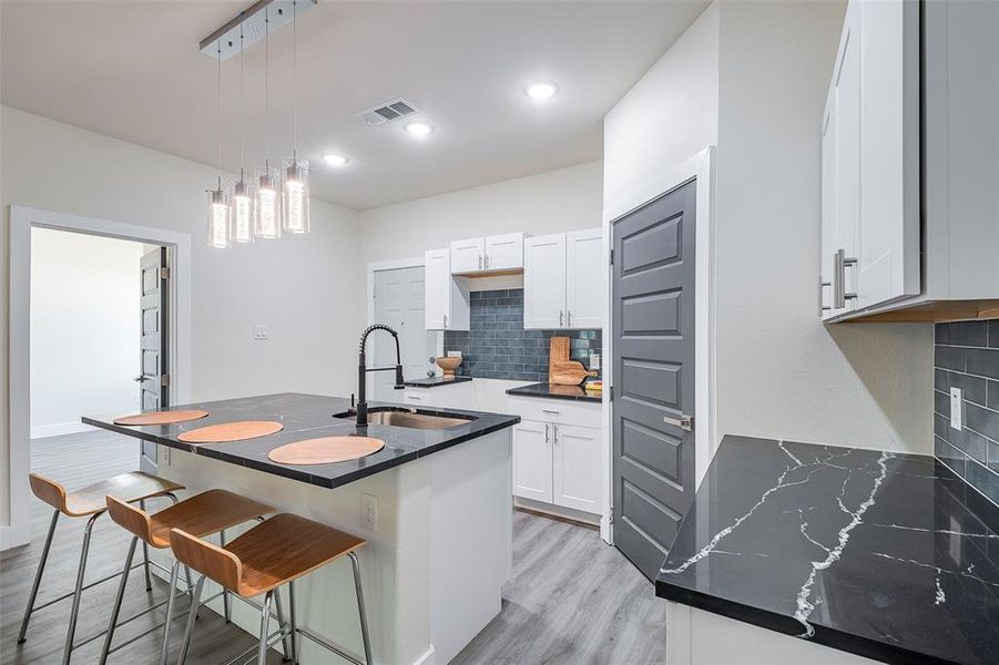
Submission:
<svg viewBox="0 0 999 665">
<path fill-rule="evenodd" d="M 272 641 L 277 643 L 275 637 L 285 642 L 285 657 L 290 655 L 292 662 L 297 663 L 298 635 L 308 637 L 319 646 L 351 663 L 371 665 L 371 643 L 368 637 L 368 620 L 364 607 L 360 565 L 355 553 L 355 550 L 367 544 L 364 539 L 298 515 L 281 513 L 258 526 L 254 526 L 225 548 L 217 548 L 180 529 L 170 532 L 170 544 L 174 555 L 182 563 L 201 573 L 194 587 L 195 603 L 201 597 L 205 577 L 211 577 L 244 600 L 266 594 L 261 607 L 261 641 L 257 646 L 259 665 L 267 662 L 267 648 Z M 354 590 L 357 595 L 357 611 L 360 615 L 360 632 L 365 651 L 364 661 L 310 631 L 298 628 L 295 624 L 295 580 L 344 555 L 350 557 L 354 570 Z M 282 625 L 281 595 L 277 591 L 284 584 L 288 584 L 290 626 Z M 268 635 L 272 600 L 277 604 L 279 630 L 274 635 Z M 194 613 L 188 613 L 184 643 L 177 659 L 179 665 L 183 665 L 187 656 L 193 631 Z M 290 635 L 290 645 L 286 640 L 288 635 Z M 237 656 L 232 662 L 242 659 L 251 652 Z"/>
</svg>

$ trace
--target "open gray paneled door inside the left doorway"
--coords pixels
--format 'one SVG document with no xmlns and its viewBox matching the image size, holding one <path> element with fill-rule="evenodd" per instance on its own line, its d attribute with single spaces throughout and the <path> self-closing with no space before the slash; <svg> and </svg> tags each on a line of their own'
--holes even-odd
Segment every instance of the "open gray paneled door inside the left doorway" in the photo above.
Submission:
<svg viewBox="0 0 999 665">
<path fill-rule="evenodd" d="M 170 273 L 166 263 L 166 247 L 156 247 L 142 255 L 140 262 L 140 366 L 142 374 L 139 381 L 140 400 L 143 411 L 165 409 L 170 407 L 170 356 L 167 331 L 167 279 Z M 139 469 L 146 473 L 156 472 L 156 444 L 142 442 Z"/>
</svg>

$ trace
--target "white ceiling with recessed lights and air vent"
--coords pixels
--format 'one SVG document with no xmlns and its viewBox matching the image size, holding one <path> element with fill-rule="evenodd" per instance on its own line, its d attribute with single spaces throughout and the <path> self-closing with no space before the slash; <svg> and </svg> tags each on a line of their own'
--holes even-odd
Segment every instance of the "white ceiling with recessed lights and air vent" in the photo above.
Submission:
<svg viewBox="0 0 999 665">
<path fill-rule="evenodd" d="M 198 41 L 252 4 L 0 2 L 6 105 L 217 163 L 216 64 Z M 358 209 L 598 160 L 601 121 L 706 6 L 692 1 L 328 2 L 298 21 L 299 154 L 313 194 Z M 292 150 L 292 30 L 271 38 L 272 160 Z M 245 55 L 245 157 L 265 151 L 264 45 Z M 224 166 L 239 167 L 239 59 L 222 65 Z M 559 94 L 528 99 L 534 80 Z M 355 113 L 404 98 L 436 126 Z M 415 116 L 414 116 L 415 117 Z M 326 165 L 337 152 L 350 163 Z M 211 183 L 206 183 L 206 186 Z"/>
</svg>

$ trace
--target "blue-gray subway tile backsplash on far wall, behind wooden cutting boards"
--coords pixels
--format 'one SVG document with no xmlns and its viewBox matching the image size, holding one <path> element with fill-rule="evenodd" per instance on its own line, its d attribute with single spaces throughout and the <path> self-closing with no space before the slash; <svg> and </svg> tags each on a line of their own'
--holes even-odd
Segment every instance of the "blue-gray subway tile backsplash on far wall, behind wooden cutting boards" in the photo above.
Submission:
<svg viewBox="0 0 999 665">
<path fill-rule="evenodd" d="M 459 376 L 520 381 L 548 380 L 551 337 L 570 338 L 570 356 L 590 366 L 601 352 L 600 330 L 524 330 L 523 289 L 472 291 L 471 330 L 446 330 L 444 350 L 461 351 Z"/>
</svg>

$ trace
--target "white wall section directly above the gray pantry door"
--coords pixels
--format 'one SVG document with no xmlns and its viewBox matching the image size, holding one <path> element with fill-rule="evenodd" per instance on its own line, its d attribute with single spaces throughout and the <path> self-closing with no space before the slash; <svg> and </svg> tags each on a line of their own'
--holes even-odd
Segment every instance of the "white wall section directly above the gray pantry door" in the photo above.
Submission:
<svg viewBox="0 0 999 665">
<path fill-rule="evenodd" d="M 605 217 L 620 217 L 662 194 L 659 176 L 717 144 L 717 137 L 715 2 L 604 117 Z"/>
</svg>

